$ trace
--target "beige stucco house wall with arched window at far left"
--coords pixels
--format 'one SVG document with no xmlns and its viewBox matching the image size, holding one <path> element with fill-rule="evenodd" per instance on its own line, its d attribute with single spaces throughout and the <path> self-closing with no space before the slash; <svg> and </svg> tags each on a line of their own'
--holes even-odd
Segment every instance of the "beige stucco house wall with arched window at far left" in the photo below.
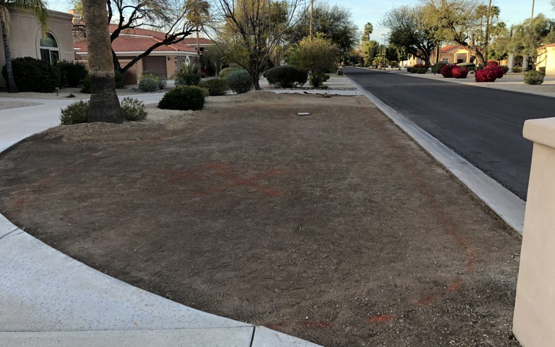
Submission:
<svg viewBox="0 0 555 347">
<path fill-rule="evenodd" d="M 11 9 L 9 49 L 12 58 L 32 57 L 49 64 L 73 61 L 72 18 L 69 13 L 48 11 L 48 32 L 42 36 L 41 26 L 33 14 Z M 4 46 L 0 44 L 0 67 L 6 65 Z M 6 80 L 0 75 L 0 87 Z"/>
</svg>

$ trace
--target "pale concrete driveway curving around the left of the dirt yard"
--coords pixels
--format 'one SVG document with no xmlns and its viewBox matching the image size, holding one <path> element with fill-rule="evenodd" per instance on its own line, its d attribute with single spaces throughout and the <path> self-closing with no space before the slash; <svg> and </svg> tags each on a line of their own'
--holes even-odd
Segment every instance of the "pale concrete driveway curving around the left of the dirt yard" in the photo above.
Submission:
<svg viewBox="0 0 555 347">
<path fill-rule="evenodd" d="M 129 96 L 154 103 L 163 94 Z M 0 152 L 58 125 L 59 109 L 75 99 L 17 101 L 41 105 L 0 110 Z M 0 254 L 0 346 L 316 346 L 112 278 L 42 243 L 1 214 Z"/>
</svg>

